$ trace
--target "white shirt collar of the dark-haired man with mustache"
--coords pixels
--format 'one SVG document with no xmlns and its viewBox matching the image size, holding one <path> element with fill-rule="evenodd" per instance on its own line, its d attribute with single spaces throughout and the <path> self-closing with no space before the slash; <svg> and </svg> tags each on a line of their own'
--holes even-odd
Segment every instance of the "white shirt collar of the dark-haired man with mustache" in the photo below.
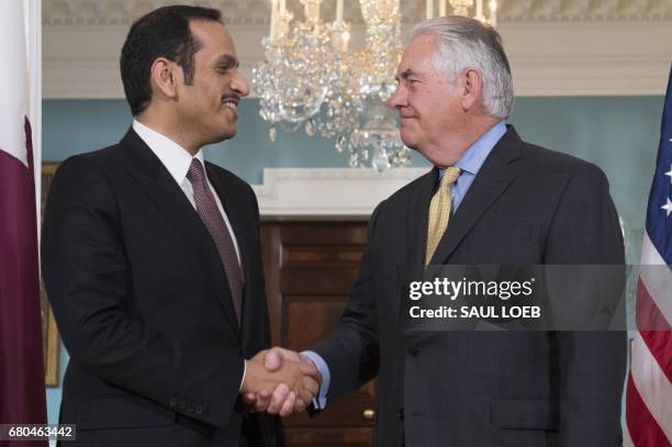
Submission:
<svg viewBox="0 0 672 447">
<path fill-rule="evenodd" d="M 166 135 L 158 133 L 137 120 L 133 120 L 133 130 L 149 146 L 166 169 L 168 169 L 175 181 L 178 185 L 182 185 L 191 166 L 191 160 L 194 157 Z M 203 164 L 203 152 L 199 150 L 195 158 Z"/>
</svg>

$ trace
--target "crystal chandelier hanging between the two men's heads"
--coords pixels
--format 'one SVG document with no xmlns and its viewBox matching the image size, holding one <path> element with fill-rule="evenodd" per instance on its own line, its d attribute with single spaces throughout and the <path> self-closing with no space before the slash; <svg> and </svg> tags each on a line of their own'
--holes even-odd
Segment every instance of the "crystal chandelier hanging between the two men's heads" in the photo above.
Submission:
<svg viewBox="0 0 672 447">
<path fill-rule="evenodd" d="M 350 167 L 371 166 L 378 171 L 407 166 L 411 150 L 400 138 L 399 123 L 388 100 L 396 88 L 394 75 L 401 58 L 400 0 L 359 0 L 366 24 L 366 47 L 350 51 L 350 24 L 343 20 L 344 0 L 336 0 L 336 20 L 322 21 L 323 0 L 301 0 L 303 21 L 295 21 L 285 0 L 271 0 L 270 32 L 262 40 L 265 58 L 253 69 L 259 113 L 277 127 L 303 127 L 310 136 L 335 138 L 336 150 L 348 156 Z M 483 0 L 449 0 L 455 14 L 496 25 L 496 1 L 490 16 Z M 426 16 L 434 15 L 426 0 Z M 446 0 L 438 1 L 446 15 Z"/>
</svg>

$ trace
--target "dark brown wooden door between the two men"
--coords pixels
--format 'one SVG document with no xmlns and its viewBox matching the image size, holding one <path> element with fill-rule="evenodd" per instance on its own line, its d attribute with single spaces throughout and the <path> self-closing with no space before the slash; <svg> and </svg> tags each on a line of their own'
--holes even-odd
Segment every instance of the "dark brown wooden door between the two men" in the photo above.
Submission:
<svg viewBox="0 0 672 447">
<path fill-rule="evenodd" d="M 264 222 L 261 245 L 273 345 L 309 348 L 345 308 L 367 243 L 367 222 Z M 284 420 L 289 446 L 370 446 L 374 382 L 318 417 Z"/>
</svg>

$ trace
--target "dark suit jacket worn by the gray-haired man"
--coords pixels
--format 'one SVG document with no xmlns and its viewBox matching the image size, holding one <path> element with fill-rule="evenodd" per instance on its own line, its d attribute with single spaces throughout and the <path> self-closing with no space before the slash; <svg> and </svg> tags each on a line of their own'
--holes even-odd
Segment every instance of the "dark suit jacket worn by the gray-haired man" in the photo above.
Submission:
<svg viewBox="0 0 672 447">
<path fill-rule="evenodd" d="M 400 327 L 399 266 L 422 266 L 434 169 L 382 202 L 334 333 L 314 350 L 334 402 L 378 375 L 376 445 L 616 446 L 623 332 L 421 332 Z M 623 264 L 617 214 L 593 165 L 495 145 L 432 264 Z"/>
</svg>

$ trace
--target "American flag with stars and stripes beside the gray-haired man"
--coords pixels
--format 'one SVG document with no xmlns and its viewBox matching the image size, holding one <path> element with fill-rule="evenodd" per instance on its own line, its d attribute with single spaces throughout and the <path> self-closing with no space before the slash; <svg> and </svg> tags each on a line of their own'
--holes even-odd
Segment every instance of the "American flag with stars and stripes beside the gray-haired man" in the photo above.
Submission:
<svg viewBox="0 0 672 447">
<path fill-rule="evenodd" d="M 672 446 L 672 70 L 649 194 L 641 265 L 624 446 L 667 447 Z"/>
</svg>

